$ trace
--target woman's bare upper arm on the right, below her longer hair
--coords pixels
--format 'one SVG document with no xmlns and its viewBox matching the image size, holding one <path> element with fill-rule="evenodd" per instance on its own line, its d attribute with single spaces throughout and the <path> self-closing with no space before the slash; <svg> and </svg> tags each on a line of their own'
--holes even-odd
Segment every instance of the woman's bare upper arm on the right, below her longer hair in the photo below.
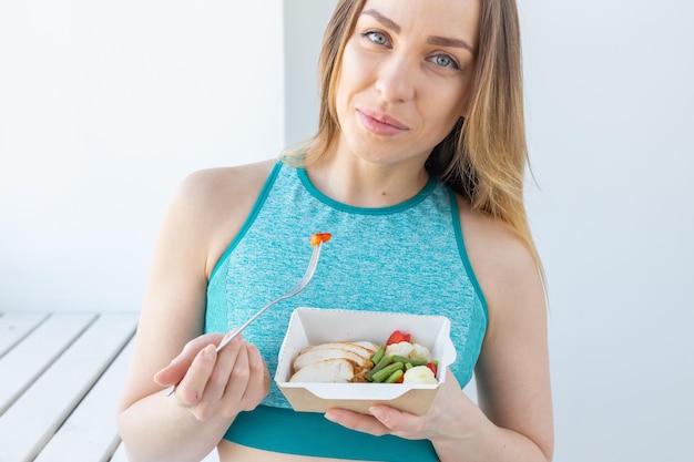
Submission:
<svg viewBox="0 0 694 462">
<path fill-rule="evenodd" d="M 497 425 L 553 451 L 547 304 L 530 250 L 506 225 L 463 208 L 470 261 L 489 310 L 476 368 L 479 405 Z"/>
</svg>

